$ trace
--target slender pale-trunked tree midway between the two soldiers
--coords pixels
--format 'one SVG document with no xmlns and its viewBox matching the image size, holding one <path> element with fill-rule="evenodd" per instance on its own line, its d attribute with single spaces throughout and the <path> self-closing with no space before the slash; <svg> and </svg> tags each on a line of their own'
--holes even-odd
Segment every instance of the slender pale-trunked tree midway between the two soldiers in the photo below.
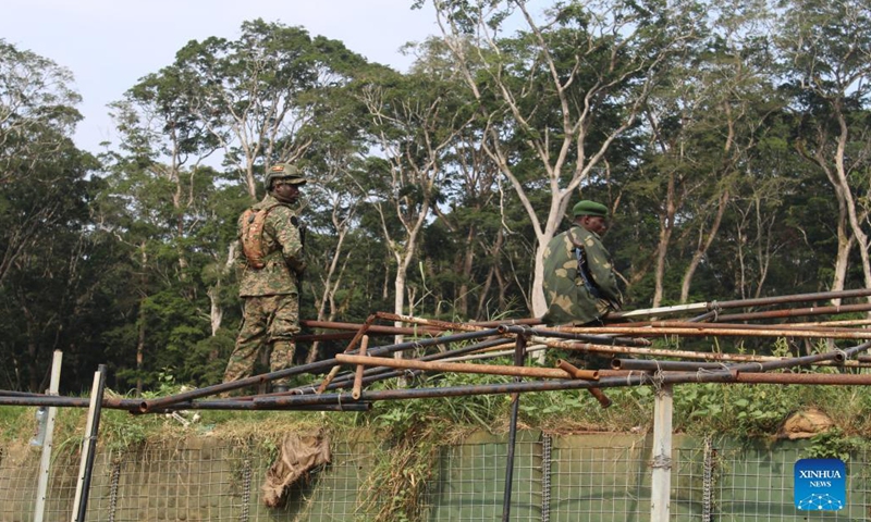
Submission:
<svg viewBox="0 0 871 522">
<path fill-rule="evenodd" d="M 408 269 L 418 253 L 424 225 L 442 198 L 447 172 L 444 157 L 474 117 L 464 110 L 456 87 L 456 83 L 422 74 L 384 74 L 360 90 L 371 120 L 371 139 L 384 154 L 383 161 L 372 162 L 380 169 L 372 171 L 375 176 L 365 188 L 395 262 L 393 311 L 397 314 L 414 312 L 414 296 L 406 296 Z"/>
</svg>

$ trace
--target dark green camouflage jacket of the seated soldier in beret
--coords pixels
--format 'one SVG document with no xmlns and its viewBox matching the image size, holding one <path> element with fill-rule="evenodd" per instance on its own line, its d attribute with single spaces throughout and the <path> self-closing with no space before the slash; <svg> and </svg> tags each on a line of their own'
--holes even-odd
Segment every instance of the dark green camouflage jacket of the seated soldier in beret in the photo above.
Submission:
<svg viewBox="0 0 871 522">
<path fill-rule="evenodd" d="M 578 271 L 578 250 L 587 266 L 587 279 Z M 544 249 L 544 300 L 548 324 L 587 324 L 611 310 L 619 310 L 623 297 L 611 256 L 598 234 L 573 226 L 556 235 Z M 596 295 L 598 294 L 598 296 Z"/>
</svg>

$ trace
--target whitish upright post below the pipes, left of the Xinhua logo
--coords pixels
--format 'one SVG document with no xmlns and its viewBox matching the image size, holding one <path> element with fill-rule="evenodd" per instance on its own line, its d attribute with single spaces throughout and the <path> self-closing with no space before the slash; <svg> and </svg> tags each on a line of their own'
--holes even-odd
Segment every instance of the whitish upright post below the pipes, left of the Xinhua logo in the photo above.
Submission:
<svg viewBox="0 0 871 522">
<path fill-rule="evenodd" d="M 668 522 L 672 492 L 672 386 L 657 391 L 653 408 L 653 450 L 650 492 L 650 521 Z"/>
</svg>

